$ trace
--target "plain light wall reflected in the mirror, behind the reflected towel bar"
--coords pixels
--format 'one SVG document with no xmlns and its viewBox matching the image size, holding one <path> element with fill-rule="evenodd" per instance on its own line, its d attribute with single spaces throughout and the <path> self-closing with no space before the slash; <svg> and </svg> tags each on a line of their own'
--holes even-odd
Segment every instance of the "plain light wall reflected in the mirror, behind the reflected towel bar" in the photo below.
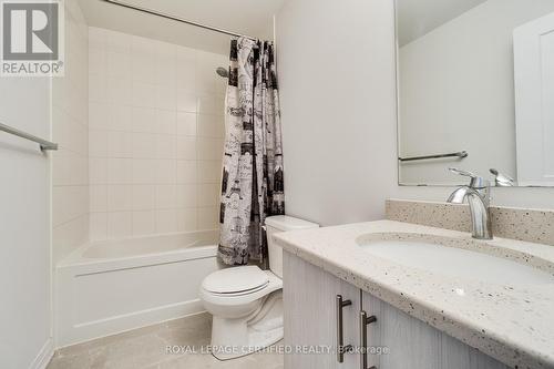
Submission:
<svg viewBox="0 0 554 369">
<path fill-rule="evenodd" d="M 553 11 L 551 0 L 489 0 L 400 49 L 400 155 L 470 153 L 403 164 L 402 183 L 462 183 L 452 165 L 516 177 L 513 30 Z"/>
</svg>

